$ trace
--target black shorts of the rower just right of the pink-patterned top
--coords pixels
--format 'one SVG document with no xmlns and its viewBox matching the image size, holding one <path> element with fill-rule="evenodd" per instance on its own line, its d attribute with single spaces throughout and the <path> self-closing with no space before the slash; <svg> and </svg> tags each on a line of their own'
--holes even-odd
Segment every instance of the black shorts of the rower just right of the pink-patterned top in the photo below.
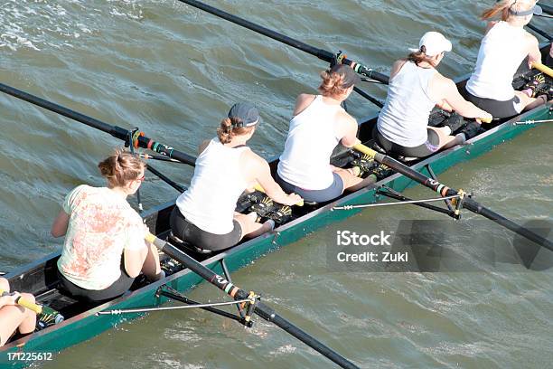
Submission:
<svg viewBox="0 0 553 369">
<path fill-rule="evenodd" d="M 242 239 L 242 227 L 233 220 L 234 229 L 227 234 L 205 232 L 184 218 L 183 213 L 175 206 L 171 213 L 171 230 L 173 235 L 203 250 L 221 251 L 236 245 Z"/>
</svg>

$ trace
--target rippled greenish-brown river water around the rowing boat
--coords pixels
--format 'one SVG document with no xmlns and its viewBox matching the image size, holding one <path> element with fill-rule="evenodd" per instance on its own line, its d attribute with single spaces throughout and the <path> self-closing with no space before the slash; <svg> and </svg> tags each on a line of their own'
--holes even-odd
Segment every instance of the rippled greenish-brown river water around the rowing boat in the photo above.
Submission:
<svg viewBox="0 0 553 369">
<path fill-rule="evenodd" d="M 388 73 L 422 33 L 445 33 L 454 44 L 440 71 L 471 71 L 483 33 L 483 4 L 431 0 L 212 1 L 211 5 L 325 50 L 348 53 Z M 548 24 L 535 24 L 548 30 Z M 251 141 L 262 156 L 277 155 L 295 96 L 313 91 L 326 66 L 311 55 L 169 0 L 4 0 L 0 7 L 0 81 L 56 101 L 194 155 L 238 100 L 254 101 L 264 124 Z M 365 90 L 384 99 L 386 90 Z M 359 97 L 358 118 L 376 109 Z M 9 271 L 60 248 L 49 229 L 75 185 L 100 185 L 96 164 L 121 143 L 109 135 L 0 96 L 0 270 Z M 534 128 L 508 145 L 441 176 L 521 222 L 553 221 L 553 126 Z M 156 163 L 157 164 L 157 163 Z M 157 164 L 188 183 L 186 166 Z M 421 188 L 411 197 L 431 196 Z M 175 191 L 148 175 L 145 207 Z M 134 202 L 134 200 L 131 200 Z M 553 362 L 551 270 L 469 261 L 466 270 L 344 272 L 327 267 L 336 230 L 367 224 L 393 230 L 405 220 L 442 220 L 419 208 L 365 211 L 306 235 L 234 275 L 262 291 L 285 317 L 362 367 L 549 367 Z M 467 215 L 447 226 L 448 247 L 479 251 L 475 230 L 500 240 L 512 235 Z M 441 232 L 441 231 L 436 231 Z M 541 255 L 541 254 L 540 254 Z M 548 255 L 543 255 L 548 258 Z M 466 267 L 466 266 L 465 266 Z M 464 267 L 464 268 L 465 268 Z M 487 268 L 489 267 L 489 268 Z M 191 293 L 216 300 L 202 286 Z M 44 368 L 300 368 L 330 367 L 320 355 L 273 326 L 247 331 L 220 317 L 186 311 L 119 326 L 72 347 Z"/>
</svg>

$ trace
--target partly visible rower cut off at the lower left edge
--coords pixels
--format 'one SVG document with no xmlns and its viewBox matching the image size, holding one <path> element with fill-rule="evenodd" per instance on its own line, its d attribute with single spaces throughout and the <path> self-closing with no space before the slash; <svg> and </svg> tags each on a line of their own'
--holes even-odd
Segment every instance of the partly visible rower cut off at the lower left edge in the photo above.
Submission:
<svg viewBox="0 0 553 369">
<path fill-rule="evenodd" d="M 0 278 L 0 346 L 19 331 L 21 335 L 33 333 L 36 326 L 36 314 L 26 307 L 17 305 L 18 298 L 24 298 L 34 302 L 33 295 L 29 293 L 9 293 L 10 284 L 5 278 Z"/>
</svg>

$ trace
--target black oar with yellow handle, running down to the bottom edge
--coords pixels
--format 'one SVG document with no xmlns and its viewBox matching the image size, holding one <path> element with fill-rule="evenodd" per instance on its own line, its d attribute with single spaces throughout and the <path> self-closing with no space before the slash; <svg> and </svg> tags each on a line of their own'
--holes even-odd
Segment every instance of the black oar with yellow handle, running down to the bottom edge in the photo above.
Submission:
<svg viewBox="0 0 553 369">
<path fill-rule="evenodd" d="M 155 237 L 154 234 L 149 233 L 145 237 L 145 240 L 153 243 L 155 247 L 157 247 L 161 251 L 164 251 L 165 254 L 169 255 L 174 260 L 181 262 L 186 268 L 192 270 L 194 273 L 202 277 L 202 279 L 207 280 L 218 289 L 225 291 L 225 293 L 227 293 L 231 298 L 234 298 L 235 300 L 250 299 L 251 303 L 246 309 L 248 311 L 246 317 L 248 320 L 248 314 L 250 316 L 251 313 L 255 313 L 259 317 L 267 320 L 267 322 L 271 322 L 274 325 L 284 329 L 290 335 L 295 336 L 295 338 L 305 343 L 305 345 L 310 346 L 318 353 L 332 360 L 335 364 L 340 365 L 342 368 L 359 369 L 357 365 L 351 363 L 351 361 L 336 353 L 332 348 L 323 345 L 321 342 L 315 339 L 314 336 L 310 336 L 299 327 L 294 326 L 284 317 L 279 316 L 277 312 L 273 310 L 273 308 L 268 307 L 267 305 L 259 301 L 254 293 L 248 293 L 243 289 L 239 289 L 237 286 L 234 286 L 232 283 L 230 283 L 227 279 L 214 273 L 209 268 L 192 259 L 183 251 L 180 251 L 179 249 L 174 247 L 171 243 Z"/>
</svg>

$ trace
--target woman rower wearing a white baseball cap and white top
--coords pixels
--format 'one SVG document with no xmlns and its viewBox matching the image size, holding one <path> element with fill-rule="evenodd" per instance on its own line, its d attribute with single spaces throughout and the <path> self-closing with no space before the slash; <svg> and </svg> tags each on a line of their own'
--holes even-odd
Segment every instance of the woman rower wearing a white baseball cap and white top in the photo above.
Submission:
<svg viewBox="0 0 553 369">
<path fill-rule="evenodd" d="M 452 44 L 442 33 L 428 32 L 419 49 L 411 49 L 407 59 L 396 61 L 389 77 L 388 98 L 380 116 L 375 138 L 380 147 L 398 156 L 425 157 L 441 148 L 462 144 L 464 134 L 452 136 L 463 119 L 450 119 L 442 128 L 428 127 L 435 106 L 455 110 L 466 118 L 492 116 L 463 99 L 455 82 L 436 71 Z"/>
</svg>

